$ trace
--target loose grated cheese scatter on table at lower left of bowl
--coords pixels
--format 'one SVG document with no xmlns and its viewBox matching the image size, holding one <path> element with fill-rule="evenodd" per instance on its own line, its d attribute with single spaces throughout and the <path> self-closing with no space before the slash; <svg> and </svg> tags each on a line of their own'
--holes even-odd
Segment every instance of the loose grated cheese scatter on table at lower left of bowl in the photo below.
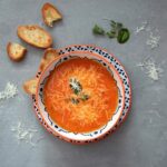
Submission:
<svg viewBox="0 0 167 167">
<path fill-rule="evenodd" d="M 21 121 L 19 121 L 16 127 L 11 127 L 11 131 L 14 132 L 18 144 L 20 144 L 20 141 L 24 141 L 26 144 L 30 144 L 32 147 L 36 147 L 36 144 L 43 138 L 40 137 L 37 141 L 33 141 L 35 135 L 38 130 L 33 128 L 26 128 Z"/>
</svg>

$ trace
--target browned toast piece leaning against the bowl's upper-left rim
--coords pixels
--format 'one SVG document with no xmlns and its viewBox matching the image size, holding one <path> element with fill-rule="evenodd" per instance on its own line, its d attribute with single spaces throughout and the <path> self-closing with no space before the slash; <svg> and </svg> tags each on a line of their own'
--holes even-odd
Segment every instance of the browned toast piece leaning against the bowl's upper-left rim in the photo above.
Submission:
<svg viewBox="0 0 167 167">
<path fill-rule="evenodd" d="M 43 71 L 46 69 L 46 67 L 52 61 L 55 60 L 57 57 L 59 56 L 59 53 L 57 52 L 57 50 L 49 48 L 45 51 L 45 55 L 40 61 L 39 65 L 39 70 Z"/>
</svg>

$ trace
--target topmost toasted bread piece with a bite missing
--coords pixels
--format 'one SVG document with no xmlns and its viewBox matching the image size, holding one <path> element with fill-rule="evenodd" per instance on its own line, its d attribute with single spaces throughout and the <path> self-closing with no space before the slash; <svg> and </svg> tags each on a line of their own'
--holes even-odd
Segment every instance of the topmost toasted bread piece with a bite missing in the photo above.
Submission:
<svg viewBox="0 0 167 167">
<path fill-rule="evenodd" d="M 55 21 L 61 20 L 62 16 L 51 3 L 45 3 L 41 9 L 43 21 L 47 26 L 52 27 Z"/>
</svg>

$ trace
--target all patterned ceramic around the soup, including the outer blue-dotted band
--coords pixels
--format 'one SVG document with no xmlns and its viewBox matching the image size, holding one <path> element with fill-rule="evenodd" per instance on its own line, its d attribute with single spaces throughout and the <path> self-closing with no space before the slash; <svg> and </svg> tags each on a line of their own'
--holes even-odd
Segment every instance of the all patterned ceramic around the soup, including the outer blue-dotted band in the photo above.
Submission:
<svg viewBox="0 0 167 167">
<path fill-rule="evenodd" d="M 38 95 L 32 96 L 32 99 L 35 112 L 38 119 L 49 132 L 73 144 L 88 144 L 105 138 L 110 132 L 115 131 L 117 127 L 125 120 L 131 105 L 130 81 L 124 67 L 112 55 L 95 46 L 69 46 L 60 49 L 59 55 L 61 59 L 50 63 L 42 75 L 40 71 L 37 73 L 37 77 L 40 78 L 41 82 L 39 84 Z M 57 63 L 61 63 L 62 61 L 66 61 L 67 59 L 73 58 L 76 56 L 89 57 L 107 67 L 108 70 L 112 72 L 114 78 L 117 81 L 117 87 L 119 88 L 119 102 L 114 117 L 106 126 L 96 131 L 87 134 L 73 134 L 59 127 L 51 120 L 42 104 L 42 87 L 46 78 L 49 76 L 49 72 L 55 68 L 55 66 L 57 66 Z"/>
</svg>

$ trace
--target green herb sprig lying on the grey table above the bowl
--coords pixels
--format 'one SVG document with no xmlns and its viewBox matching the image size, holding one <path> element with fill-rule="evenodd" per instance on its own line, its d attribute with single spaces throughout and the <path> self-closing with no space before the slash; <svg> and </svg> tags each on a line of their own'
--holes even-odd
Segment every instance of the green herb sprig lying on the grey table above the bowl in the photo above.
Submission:
<svg viewBox="0 0 167 167">
<path fill-rule="evenodd" d="M 107 19 L 105 19 L 107 20 Z M 105 30 L 99 27 L 98 24 L 95 24 L 95 27 L 92 28 L 92 32 L 95 35 L 105 35 L 108 38 L 117 38 L 117 41 L 119 43 L 125 43 L 128 41 L 128 39 L 130 38 L 130 32 L 127 28 L 124 27 L 124 24 L 121 22 L 116 22 L 114 20 L 109 20 L 110 22 L 110 30 L 105 32 Z"/>
</svg>

